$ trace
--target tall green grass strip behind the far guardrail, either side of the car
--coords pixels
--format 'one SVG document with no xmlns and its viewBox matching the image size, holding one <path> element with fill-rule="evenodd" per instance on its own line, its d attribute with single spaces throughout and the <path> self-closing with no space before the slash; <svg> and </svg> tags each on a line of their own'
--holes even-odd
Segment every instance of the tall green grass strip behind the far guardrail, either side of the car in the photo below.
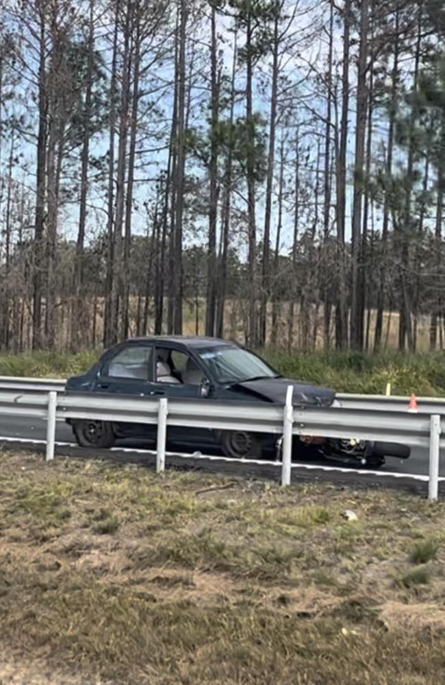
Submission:
<svg viewBox="0 0 445 685">
<path fill-rule="evenodd" d="M 0 355 L 0 376 L 64 378 L 86 370 L 100 350 L 77 354 L 35 352 Z M 285 352 L 260 351 L 281 374 L 329 385 L 338 392 L 383 394 L 392 384 L 392 394 L 445 396 L 444 352 L 401 354 L 382 352 Z"/>
</svg>

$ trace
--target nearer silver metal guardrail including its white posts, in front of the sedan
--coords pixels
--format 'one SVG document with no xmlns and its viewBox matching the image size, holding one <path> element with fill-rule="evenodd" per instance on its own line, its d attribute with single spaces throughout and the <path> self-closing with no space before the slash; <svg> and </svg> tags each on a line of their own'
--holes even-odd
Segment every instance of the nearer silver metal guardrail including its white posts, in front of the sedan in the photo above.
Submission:
<svg viewBox="0 0 445 685">
<path fill-rule="evenodd" d="M 225 431 L 252 431 L 283 435 L 281 482 L 290 483 L 292 435 L 322 435 L 357 440 L 401 442 L 429 449 L 429 497 L 437 498 L 441 417 L 438 413 L 408 414 L 404 411 L 356 407 L 293 407 L 292 386 L 285 406 L 250 402 L 223 402 L 205 399 L 157 399 L 124 395 L 65 393 L 57 381 L 47 389 L 47 381 L 28 389 L 22 385 L 1 385 L 0 412 L 12 416 L 32 416 L 47 420 L 47 459 L 54 457 L 56 420 L 90 419 L 110 422 L 157 425 L 157 470 L 163 470 L 168 426 L 188 426 Z M 15 379 L 14 379 L 15 380 Z"/>
</svg>

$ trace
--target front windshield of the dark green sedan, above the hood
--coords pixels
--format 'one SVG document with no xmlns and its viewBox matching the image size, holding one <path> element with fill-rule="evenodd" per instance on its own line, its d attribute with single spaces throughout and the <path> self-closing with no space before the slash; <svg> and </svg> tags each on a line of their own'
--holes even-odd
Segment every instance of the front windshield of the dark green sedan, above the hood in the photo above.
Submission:
<svg viewBox="0 0 445 685">
<path fill-rule="evenodd" d="M 255 354 L 240 348 L 198 350 L 199 357 L 219 383 L 242 383 L 257 378 L 277 378 L 274 370 Z"/>
</svg>

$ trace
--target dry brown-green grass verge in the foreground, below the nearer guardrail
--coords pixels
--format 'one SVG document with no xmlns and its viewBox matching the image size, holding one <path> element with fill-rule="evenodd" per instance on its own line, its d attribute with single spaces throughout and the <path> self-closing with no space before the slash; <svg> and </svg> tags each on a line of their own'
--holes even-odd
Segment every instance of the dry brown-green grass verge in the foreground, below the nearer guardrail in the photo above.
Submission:
<svg viewBox="0 0 445 685">
<path fill-rule="evenodd" d="M 445 681 L 441 503 L 8 453 L 0 469 L 2 685 Z"/>
</svg>

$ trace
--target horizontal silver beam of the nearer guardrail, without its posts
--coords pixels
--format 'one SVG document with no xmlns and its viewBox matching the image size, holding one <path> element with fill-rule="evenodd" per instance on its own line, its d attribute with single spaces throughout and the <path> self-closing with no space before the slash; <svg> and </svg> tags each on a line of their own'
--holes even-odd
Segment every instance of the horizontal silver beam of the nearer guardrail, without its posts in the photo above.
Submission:
<svg viewBox="0 0 445 685">
<path fill-rule="evenodd" d="M 159 399 L 90 393 L 57 393 L 56 418 L 111 422 L 157 423 Z M 0 411 L 16 416 L 46 418 L 48 393 L 23 389 L 0 391 Z M 283 407 L 254 402 L 169 399 L 168 424 L 201 429 L 252 431 L 281 435 Z M 429 446 L 429 416 L 401 411 L 346 407 L 293 408 L 294 435 L 325 435 L 357 440 L 403 442 Z M 445 438 L 441 441 L 445 447 Z"/>
</svg>

